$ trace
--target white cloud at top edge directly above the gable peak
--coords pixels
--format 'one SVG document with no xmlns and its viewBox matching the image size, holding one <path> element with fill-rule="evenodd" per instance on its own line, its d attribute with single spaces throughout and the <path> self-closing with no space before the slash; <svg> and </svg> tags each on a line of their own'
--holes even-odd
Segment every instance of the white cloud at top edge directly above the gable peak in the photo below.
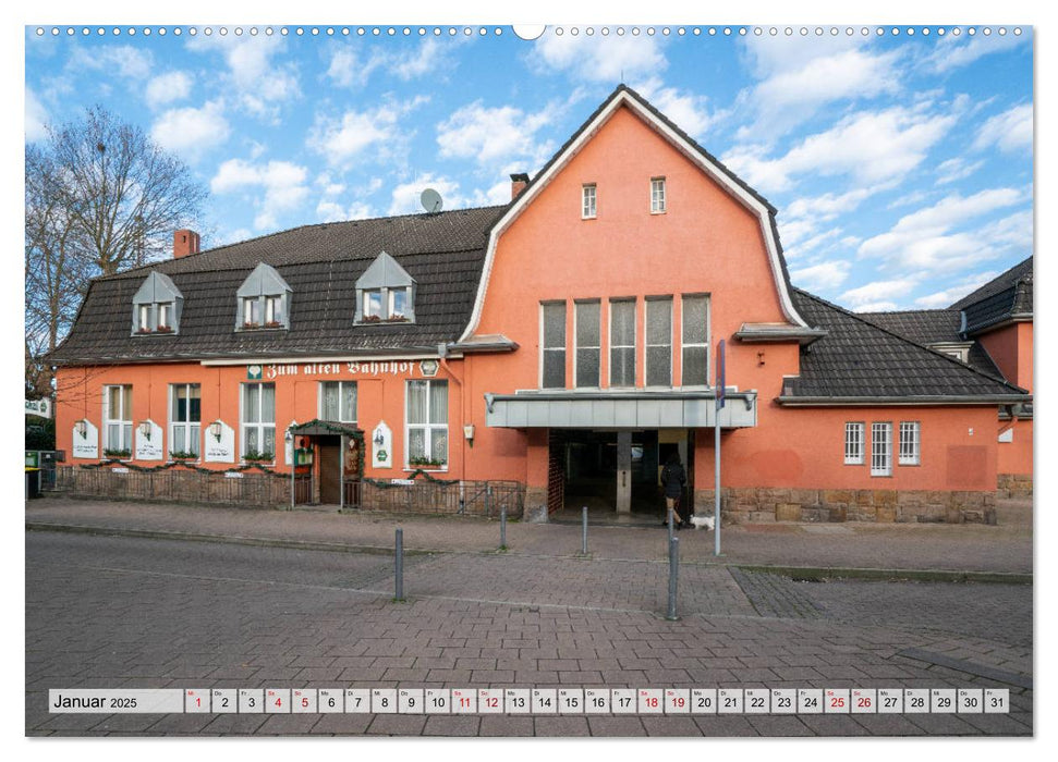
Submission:
<svg viewBox="0 0 1058 762">
<path fill-rule="evenodd" d="M 576 79 L 604 83 L 646 78 L 668 65 L 656 37 L 573 37 L 556 35 L 550 28 L 533 44 L 530 63 L 538 70 L 567 72 Z"/>
</svg>

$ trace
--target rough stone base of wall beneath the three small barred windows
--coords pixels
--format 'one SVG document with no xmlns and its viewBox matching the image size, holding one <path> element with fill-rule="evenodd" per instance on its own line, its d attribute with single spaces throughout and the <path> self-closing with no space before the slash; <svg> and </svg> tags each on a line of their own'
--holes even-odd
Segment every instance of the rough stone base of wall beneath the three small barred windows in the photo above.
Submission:
<svg viewBox="0 0 1058 762">
<path fill-rule="evenodd" d="M 694 511 L 713 514 L 714 491 L 694 491 Z M 993 492 L 925 490 L 796 490 L 728 488 L 720 491 L 726 524 L 876 521 L 995 524 Z"/>
</svg>

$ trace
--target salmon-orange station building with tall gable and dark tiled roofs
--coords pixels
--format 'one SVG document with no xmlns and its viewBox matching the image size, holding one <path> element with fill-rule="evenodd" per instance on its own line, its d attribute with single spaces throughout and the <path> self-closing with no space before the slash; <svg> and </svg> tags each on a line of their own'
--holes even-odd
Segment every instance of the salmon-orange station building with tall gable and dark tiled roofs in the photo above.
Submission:
<svg viewBox="0 0 1058 762">
<path fill-rule="evenodd" d="M 712 506 L 718 428 L 729 520 L 989 520 L 1031 491 L 1031 258 L 946 310 L 856 315 L 790 282 L 776 214 L 621 86 L 501 207 L 179 231 L 96 279 L 52 356 L 65 483 L 660 515 L 673 452 Z"/>
</svg>

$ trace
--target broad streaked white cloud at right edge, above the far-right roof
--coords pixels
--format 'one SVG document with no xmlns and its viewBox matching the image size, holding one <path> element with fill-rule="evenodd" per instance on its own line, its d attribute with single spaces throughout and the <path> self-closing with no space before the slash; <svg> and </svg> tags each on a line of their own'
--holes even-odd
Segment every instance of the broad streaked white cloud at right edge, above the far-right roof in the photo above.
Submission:
<svg viewBox="0 0 1058 762">
<path fill-rule="evenodd" d="M 970 230 L 953 231 L 1026 200 L 1014 188 L 993 188 L 973 196 L 948 196 L 932 207 L 900 218 L 892 230 L 860 245 L 863 257 L 885 258 L 903 269 L 964 269 L 1021 247 L 1031 250 L 1032 214 L 1017 212 Z"/>
</svg>

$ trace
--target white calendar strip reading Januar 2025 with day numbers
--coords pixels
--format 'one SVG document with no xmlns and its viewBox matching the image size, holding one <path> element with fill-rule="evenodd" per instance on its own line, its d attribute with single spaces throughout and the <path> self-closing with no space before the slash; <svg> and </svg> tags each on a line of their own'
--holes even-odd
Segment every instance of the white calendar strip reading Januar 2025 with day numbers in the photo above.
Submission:
<svg viewBox="0 0 1058 762">
<path fill-rule="evenodd" d="M 52 714 L 1007 714 L 1008 688 L 51 689 Z"/>
</svg>

